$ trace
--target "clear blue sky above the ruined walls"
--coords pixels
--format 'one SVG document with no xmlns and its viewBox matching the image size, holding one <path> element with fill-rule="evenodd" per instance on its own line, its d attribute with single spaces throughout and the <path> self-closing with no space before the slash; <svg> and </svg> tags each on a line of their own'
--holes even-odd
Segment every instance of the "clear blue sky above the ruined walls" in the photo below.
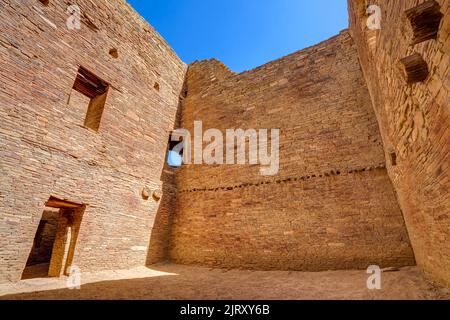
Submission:
<svg viewBox="0 0 450 320">
<path fill-rule="evenodd" d="M 242 72 L 347 28 L 347 0 L 127 0 L 186 63 Z"/>
</svg>

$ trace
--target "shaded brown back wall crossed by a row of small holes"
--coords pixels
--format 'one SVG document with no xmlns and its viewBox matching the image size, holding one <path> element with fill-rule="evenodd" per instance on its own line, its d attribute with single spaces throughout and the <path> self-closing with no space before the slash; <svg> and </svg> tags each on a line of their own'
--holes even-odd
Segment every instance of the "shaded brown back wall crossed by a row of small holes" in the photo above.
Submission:
<svg viewBox="0 0 450 320">
<path fill-rule="evenodd" d="M 234 74 L 189 67 L 181 127 L 279 128 L 280 171 L 185 165 L 171 258 L 229 268 L 414 264 L 370 96 L 348 32 Z"/>
</svg>

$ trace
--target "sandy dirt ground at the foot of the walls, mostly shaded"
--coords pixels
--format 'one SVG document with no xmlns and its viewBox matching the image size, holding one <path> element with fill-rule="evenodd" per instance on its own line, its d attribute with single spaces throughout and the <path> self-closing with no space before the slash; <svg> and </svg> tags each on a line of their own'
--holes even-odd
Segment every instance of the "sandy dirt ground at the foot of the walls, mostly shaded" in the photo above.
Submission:
<svg viewBox="0 0 450 320">
<path fill-rule="evenodd" d="M 67 278 L 0 285 L 0 299 L 316 300 L 450 299 L 416 267 L 383 272 L 381 290 L 368 290 L 363 271 L 243 271 L 180 265 L 83 273 L 81 289 Z"/>
</svg>

